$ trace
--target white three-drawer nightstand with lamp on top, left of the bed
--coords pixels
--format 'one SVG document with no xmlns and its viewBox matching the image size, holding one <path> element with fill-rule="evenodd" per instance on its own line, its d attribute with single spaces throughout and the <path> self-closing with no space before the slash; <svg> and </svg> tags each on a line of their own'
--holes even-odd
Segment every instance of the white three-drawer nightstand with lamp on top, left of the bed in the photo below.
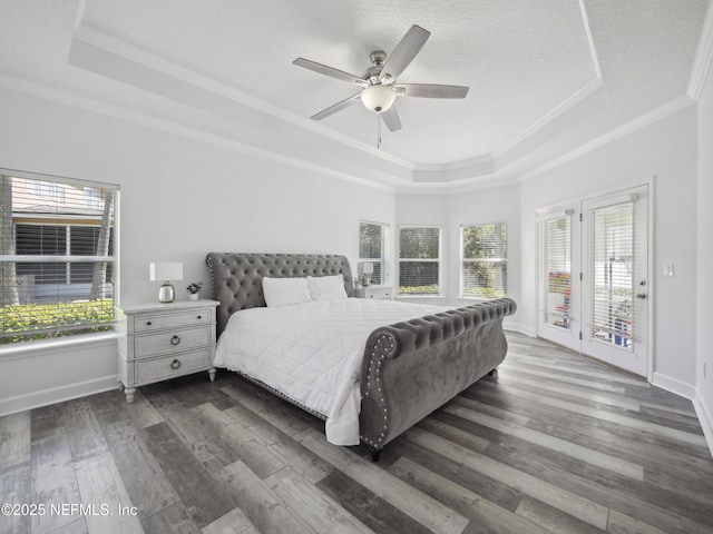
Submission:
<svg viewBox="0 0 713 534">
<path fill-rule="evenodd" d="M 136 388 L 207 370 L 215 379 L 216 300 L 140 304 L 117 308 L 119 380 L 126 400 Z"/>
</svg>

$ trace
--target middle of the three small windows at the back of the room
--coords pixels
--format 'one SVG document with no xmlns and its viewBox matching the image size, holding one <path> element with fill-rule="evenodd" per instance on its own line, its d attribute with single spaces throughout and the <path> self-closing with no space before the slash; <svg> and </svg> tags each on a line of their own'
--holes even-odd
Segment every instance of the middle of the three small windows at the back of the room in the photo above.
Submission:
<svg viewBox="0 0 713 534">
<path fill-rule="evenodd" d="M 440 295 L 440 228 L 399 233 L 399 295 Z"/>
</svg>

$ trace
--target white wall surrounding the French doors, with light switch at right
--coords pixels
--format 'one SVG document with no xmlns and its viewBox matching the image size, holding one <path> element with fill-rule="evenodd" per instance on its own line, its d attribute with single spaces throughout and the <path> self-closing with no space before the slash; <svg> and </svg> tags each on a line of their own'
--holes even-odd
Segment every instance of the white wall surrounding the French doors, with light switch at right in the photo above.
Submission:
<svg viewBox="0 0 713 534">
<path fill-rule="evenodd" d="M 655 176 L 654 383 L 692 396 L 695 384 L 696 326 L 696 107 L 561 165 L 522 184 L 521 322 L 536 330 L 537 226 L 535 210 L 612 188 L 642 184 Z M 675 276 L 664 278 L 664 264 Z"/>
</svg>

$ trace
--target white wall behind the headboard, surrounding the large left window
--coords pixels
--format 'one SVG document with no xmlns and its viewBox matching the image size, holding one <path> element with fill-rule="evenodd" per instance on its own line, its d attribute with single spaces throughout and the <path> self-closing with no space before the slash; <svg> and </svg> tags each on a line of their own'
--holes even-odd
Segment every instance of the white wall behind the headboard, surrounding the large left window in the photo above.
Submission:
<svg viewBox="0 0 713 534">
<path fill-rule="evenodd" d="M 121 187 L 124 304 L 157 298 L 159 284 L 148 280 L 150 261 L 183 261 L 178 298 L 187 298 L 184 287 L 194 280 L 205 281 L 202 295 L 209 297 L 208 251 L 343 254 L 355 266 L 359 221 L 395 222 L 394 194 L 382 189 L 4 89 L 0 116 L 0 167 Z M 116 374 L 114 350 L 72 350 L 74 359 L 42 349 L 18 359 L 0 349 L 0 414 L 19 402 L 45 402 L 49 390 L 59 399 L 72 390 L 89 393 L 86 384 L 108 387 L 107 369 Z M 78 367 L 68 377 L 67 369 Z"/>
</svg>

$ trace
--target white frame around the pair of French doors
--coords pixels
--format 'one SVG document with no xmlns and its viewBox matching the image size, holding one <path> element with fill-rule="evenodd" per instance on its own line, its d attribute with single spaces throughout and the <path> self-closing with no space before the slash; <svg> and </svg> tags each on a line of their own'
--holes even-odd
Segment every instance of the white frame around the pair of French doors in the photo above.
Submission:
<svg viewBox="0 0 713 534">
<path fill-rule="evenodd" d="M 557 204 L 553 204 L 549 206 L 544 206 L 541 208 L 537 208 L 535 210 L 535 220 L 537 224 L 537 261 L 535 263 L 535 279 L 537 280 L 537 306 L 535 307 L 536 309 L 536 314 L 537 314 L 537 320 L 535 322 L 535 333 L 536 333 L 536 337 L 540 337 L 543 334 L 543 324 L 541 324 L 541 309 L 544 307 L 544 303 L 543 303 L 543 293 L 541 293 L 541 285 L 543 285 L 543 273 L 541 273 L 541 266 L 544 263 L 544 258 L 543 258 L 543 246 L 540 243 L 540 233 L 539 233 L 539 220 L 544 217 L 547 217 L 548 215 L 551 214 L 556 214 L 556 212 L 561 212 L 565 211 L 567 209 L 574 209 L 575 212 L 577 214 L 577 216 L 583 216 L 583 205 L 586 201 L 593 201 L 596 200 L 597 198 L 603 198 L 603 197 L 607 197 L 607 196 L 614 196 L 616 194 L 625 194 L 626 191 L 634 189 L 636 187 L 643 187 L 643 186 L 647 186 L 647 243 L 646 243 L 646 255 L 647 255 L 647 263 L 648 263 L 648 277 L 647 277 L 647 298 L 646 298 L 646 306 L 647 306 L 647 320 L 646 320 L 646 349 L 647 349 L 647 360 L 646 360 L 646 375 L 645 378 L 647 382 L 652 383 L 653 382 L 653 375 L 654 375 L 654 363 L 656 360 L 656 347 L 654 344 L 654 323 L 655 323 L 655 300 L 656 300 L 656 287 L 657 287 L 657 277 L 656 277 L 656 265 L 654 263 L 655 259 L 655 218 L 656 218 L 656 214 L 654 210 L 655 207 L 655 199 L 656 199 L 656 176 L 651 176 L 646 179 L 643 180 L 636 180 L 636 181 L 632 181 L 628 184 L 621 184 L 618 186 L 615 187 L 609 187 L 603 190 L 597 190 L 597 191 L 593 191 L 593 192 L 588 192 L 586 195 L 582 195 L 575 198 L 570 198 L 569 200 L 565 200 L 565 201 L 560 201 Z M 583 260 L 583 224 L 579 222 L 579 226 L 577 227 L 578 230 L 575 231 L 573 230 L 572 235 L 573 235 L 573 240 L 578 239 L 578 246 L 575 247 L 574 243 L 573 243 L 573 254 L 575 251 L 575 248 L 577 250 L 577 254 L 579 255 L 578 258 L 573 258 L 572 264 L 573 264 L 573 270 L 574 270 L 574 266 L 577 265 L 579 267 L 579 271 L 583 273 L 582 269 L 584 269 L 586 266 L 583 265 L 582 260 Z M 578 276 L 575 277 L 575 273 L 573 271 L 573 278 L 579 278 Z M 573 284 L 579 284 L 582 285 L 583 283 L 578 279 L 573 280 Z M 582 287 L 578 288 L 579 295 L 582 295 Z M 578 306 L 582 306 L 582 299 L 579 299 Z M 582 314 L 578 314 L 579 317 L 582 316 Z M 579 327 L 579 332 L 583 332 L 583 325 L 582 322 L 578 320 L 577 322 L 577 326 Z M 574 335 L 577 335 L 578 333 L 573 333 Z M 547 338 L 546 338 L 547 339 Z M 556 342 L 554 342 L 556 343 Z M 587 355 L 582 353 L 582 344 L 579 343 L 579 349 L 575 349 L 573 347 L 566 347 L 570 350 L 574 350 L 578 354 L 582 354 L 583 356 L 588 357 Z M 609 365 L 606 363 L 603 363 L 603 365 Z M 611 366 L 611 365 L 609 365 Z M 614 367 L 614 366 L 612 366 Z M 622 369 L 625 373 L 628 373 L 626 369 Z"/>
</svg>

